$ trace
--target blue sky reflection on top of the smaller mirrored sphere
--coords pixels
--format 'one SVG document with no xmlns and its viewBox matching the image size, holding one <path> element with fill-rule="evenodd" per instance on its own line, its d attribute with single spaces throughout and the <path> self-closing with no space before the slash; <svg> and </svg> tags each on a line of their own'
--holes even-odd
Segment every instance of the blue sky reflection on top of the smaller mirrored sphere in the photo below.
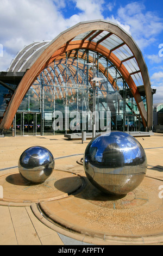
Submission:
<svg viewBox="0 0 163 256">
<path fill-rule="evenodd" d="M 39 159 L 39 165 L 42 165 L 45 163 L 45 161 L 50 161 L 50 155 L 49 152 L 40 147 L 33 147 L 26 150 L 24 156 L 23 156 L 23 163 L 28 164 L 29 160 L 32 158 Z"/>
</svg>

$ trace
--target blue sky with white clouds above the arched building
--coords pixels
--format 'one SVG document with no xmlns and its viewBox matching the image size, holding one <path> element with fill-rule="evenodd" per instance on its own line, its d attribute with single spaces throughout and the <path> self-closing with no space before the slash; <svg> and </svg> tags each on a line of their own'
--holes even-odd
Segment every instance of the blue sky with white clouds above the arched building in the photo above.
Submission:
<svg viewBox="0 0 163 256">
<path fill-rule="evenodd" d="M 152 44 L 163 29 L 160 19 L 154 13 L 147 12 L 145 5 L 140 2 L 118 6 L 116 16 L 104 18 L 103 11 L 107 8 L 112 11 L 115 3 L 104 0 L 1 0 L 0 44 L 11 60 L 24 45 L 33 41 L 52 40 L 68 27 L 81 21 L 97 19 L 117 23 L 133 36 L 141 50 Z M 73 10 L 68 18 L 62 13 L 66 7 Z M 4 58 L 2 62 L 1 57 L 0 66 L 6 70 L 8 62 Z M 155 56 L 148 55 L 147 58 L 160 63 Z"/>
</svg>

